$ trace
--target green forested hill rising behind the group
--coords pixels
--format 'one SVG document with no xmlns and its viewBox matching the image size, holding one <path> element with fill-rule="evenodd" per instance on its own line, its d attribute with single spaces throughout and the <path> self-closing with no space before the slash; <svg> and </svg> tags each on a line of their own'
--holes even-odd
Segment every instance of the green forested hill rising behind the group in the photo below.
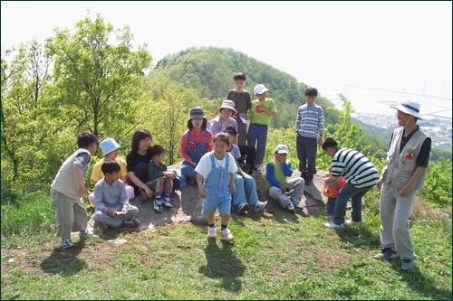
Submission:
<svg viewBox="0 0 453 301">
<path fill-rule="evenodd" d="M 165 57 L 153 70 L 167 73 L 172 80 L 196 89 L 199 97 L 205 99 L 225 98 L 227 91 L 233 89 L 233 74 L 238 71 L 246 73 L 246 89 L 251 94 L 258 83 L 264 83 L 269 89 L 268 97 L 275 99 L 279 110 L 275 127 L 293 127 L 295 110 L 305 102 L 306 85 L 245 53 L 215 47 L 189 48 Z M 323 108 L 333 107 L 323 97 L 317 102 Z M 327 119 L 334 118 L 332 113 L 326 112 L 326 115 Z"/>
</svg>

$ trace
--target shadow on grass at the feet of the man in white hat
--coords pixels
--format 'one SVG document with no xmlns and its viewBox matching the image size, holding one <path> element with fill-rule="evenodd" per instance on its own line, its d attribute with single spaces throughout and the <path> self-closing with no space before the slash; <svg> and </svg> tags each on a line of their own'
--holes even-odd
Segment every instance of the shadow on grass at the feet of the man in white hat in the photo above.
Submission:
<svg viewBox="0 0 453 301">
<path fill-rule="evenodd" d="M 451 290 L 439 289 L 436 281 L 432 278 L 425 277 L 417 267 L 417 260 L 415 267 L 410 270 L 401 269 L 401 260 L 392 260 L 391 268 L 393 268 L 400 278 L 407 282 L 412 291 L 419 294 L 421 298 L 434 299 L 434 300 L 451 300 Z"/>
</svg>

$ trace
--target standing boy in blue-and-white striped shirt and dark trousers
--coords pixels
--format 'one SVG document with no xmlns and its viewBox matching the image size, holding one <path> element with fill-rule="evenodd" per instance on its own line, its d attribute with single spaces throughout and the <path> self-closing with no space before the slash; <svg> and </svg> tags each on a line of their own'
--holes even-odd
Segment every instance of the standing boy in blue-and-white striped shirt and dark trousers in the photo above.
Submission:
<svg viewBox="0 0 453 301">
<path fill-rule="evenodd" d="M 296 146 L 299 171 L 305 180 L 305 184 L 310 185 L 313 174 L 316 174 L 316 142 L 318 146 L 323 146 L 324 115 L 323 108 L 314 103 L 318 96 L 318 90 L 308 87 L 304 94 L 306 104 L 299 107 L 295 119 Z"/>
</svg>

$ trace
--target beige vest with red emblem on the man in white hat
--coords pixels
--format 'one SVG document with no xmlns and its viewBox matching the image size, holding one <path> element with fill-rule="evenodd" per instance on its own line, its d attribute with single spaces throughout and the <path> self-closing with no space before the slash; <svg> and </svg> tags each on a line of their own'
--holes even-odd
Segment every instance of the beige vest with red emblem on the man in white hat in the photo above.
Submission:
<svg viewBox="0 0 453 301">
<path fill-rule="evenodd" d="M 393 132 L 389 152 L 387 153 L 387 158 L 385 160 L 385 167 L 382 171 L 384 174 L 384 183 L 390 183 L 397 188 L 401 188 L 410 181 L 412 174 L 414 174 L 418 167 L 417 157 L 419 156 L 420 148 L 428 137 L 421 129 L 419 129 L 410 137 L 410 140 L 406 146 L 404 146 L 400 154 L 400 142 L 403 131 L 404 127 L 400 127 Z M 411 158 L 407 158 L 407 154 L 411 154 Z M 419 190 L 423 186 L 425 176 L 426 170 L 421 174 L 417 183 L 415 183 L 415 190 Z"/>
</svg>

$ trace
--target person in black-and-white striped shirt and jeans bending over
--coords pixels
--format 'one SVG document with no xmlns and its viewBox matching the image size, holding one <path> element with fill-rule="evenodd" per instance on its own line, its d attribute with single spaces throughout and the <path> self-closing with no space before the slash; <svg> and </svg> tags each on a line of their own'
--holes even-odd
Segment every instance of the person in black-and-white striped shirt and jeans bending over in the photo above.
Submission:
<svg viewBox="0 0 453 301">
<path fill-rule="evenodd" d="M 335 182 L 340 175 L 348 180 L 348 183 L 337 195 L 333 209 L 333 221 L 324 223 L 324 226 L 333 229 L 344 226 L 346 204 L 350 198 L 352 200 L 352 221 L 347 221 L 347 223 L 361 223 L 361 198 L 378 182 L 378 170 L 365 155 L 351 148 L 339 148 L 333 138 L 325 139 L 323 151 L 333 158 L 332 172 L 325 182 Z"/>
</svg>

